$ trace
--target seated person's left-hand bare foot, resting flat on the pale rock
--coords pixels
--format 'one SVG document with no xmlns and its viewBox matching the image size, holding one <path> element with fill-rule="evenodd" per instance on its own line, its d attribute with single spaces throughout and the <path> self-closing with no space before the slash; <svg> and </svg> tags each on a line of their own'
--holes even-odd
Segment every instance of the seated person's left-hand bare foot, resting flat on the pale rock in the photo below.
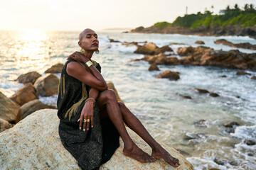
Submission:
<svg viewBox="0 0 256 170">
<path fill-rule="evenodd" d="M 132 147 L 125 147 L 123 149 L 123 153 L 127 157 L 131 157 L 132 159 L 136 159 L 139 162 L 155 162 L 156 159 L 154 157 L 151 157 L 146 152 L 142 151 L 142 149 L 139 149 L 137 145 L 132 145 Z"/>
</svg>

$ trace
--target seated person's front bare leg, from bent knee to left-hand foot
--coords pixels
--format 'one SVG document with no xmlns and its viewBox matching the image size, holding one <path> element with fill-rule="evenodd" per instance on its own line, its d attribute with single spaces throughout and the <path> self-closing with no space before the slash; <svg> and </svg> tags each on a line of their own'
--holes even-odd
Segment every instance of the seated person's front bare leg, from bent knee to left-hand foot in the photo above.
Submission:
<svg viewBox="0 0 256 170">
<path fill-rule="evenodd" d="M 104 110 L 106 109 L 108 117 L 114 124 L 114 127 L 117 128 L 119 135 L 124 141 L 124 155 L 132 157 L 139 162 L 154 162 L 155 158 L 151 157 L 149 154 L 146 154 L 146 152 L 143 152 L 142 149 L 139 149 L 139 147 L 134 144 L 131 137 L 129 137 L 129 134 L 124 127 L 124 120 L 122 119 L 122 114 L 119 110 L 119 105 L 117 103 L 117 98 L 114 91 L 102 91 L 97 99 L 100 111 L 104 113 Z"/>
</svg>

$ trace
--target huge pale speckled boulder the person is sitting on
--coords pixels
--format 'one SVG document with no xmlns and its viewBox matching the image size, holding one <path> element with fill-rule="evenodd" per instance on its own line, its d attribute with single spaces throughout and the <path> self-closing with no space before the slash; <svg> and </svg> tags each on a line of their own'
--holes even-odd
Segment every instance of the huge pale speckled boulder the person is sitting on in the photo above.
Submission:
<svg viewBox="0 0 256 170">
<path fill-rule="evenodd" d="M 1 169 L 77 169 L 78 162 L 66 150 L 58 135 L 59 119 L 57 110 L 43 109 L 21 120 L 13 128 L 0 133 Z M 151 148 L 129 130 L 132 140 L 145 152 Z M 40 135 L 38 135 L 40 134 Z M 124 144 L 120 137 L 120 147 L 109 162 L 100 166 L 107 169 L 193 169 L 193 166 L 181 154 L 171 147 L 162 145 L 173 157 L 178 158 L 180 166 L 174 168 L 159 159 L 156 162 L 140 163 L 122 153 Z"/>
</svg>

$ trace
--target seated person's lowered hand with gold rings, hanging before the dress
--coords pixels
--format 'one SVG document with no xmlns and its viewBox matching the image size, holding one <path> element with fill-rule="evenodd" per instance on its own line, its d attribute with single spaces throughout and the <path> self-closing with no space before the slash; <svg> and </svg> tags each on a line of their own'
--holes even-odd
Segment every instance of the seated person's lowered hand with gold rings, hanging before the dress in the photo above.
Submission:
<svg viewBox="0 0 256 170">
<path fill-rule="evenodd" d="M 90 124 L 91 124 L 91 128 L 93 127 L 93 104 L 94 104 L 94 101 L 92 100 L 88 100 L 85 102 L 85 106 L 82 108 L 80 118 L 78 119 L 78 122 L 80 121 L 80 124 L 79 124 L 80 130 L 81 129 L 83 129 L 83 131 L 89 130 Z"/>
</svg>

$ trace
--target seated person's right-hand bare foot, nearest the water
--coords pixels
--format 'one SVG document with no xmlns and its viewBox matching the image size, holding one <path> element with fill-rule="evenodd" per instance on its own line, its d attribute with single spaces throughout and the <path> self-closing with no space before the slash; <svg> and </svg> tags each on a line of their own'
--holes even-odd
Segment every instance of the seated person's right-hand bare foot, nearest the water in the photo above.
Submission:
<svg viewBox="0 0 256 170">
<path fill-rule="evenodd" d="M 171 154 L 169 154 L 166 149 L 164 149 L 163 147 L 157 147 L 152 149 L 152 157 L 155 157 L 156 159 L 164 159 L 168 164 L 170 164 L 171 166 L 174 167 L 178 167 L 179 162 L 178 159 L 171 157 Z"/>
</svg>

